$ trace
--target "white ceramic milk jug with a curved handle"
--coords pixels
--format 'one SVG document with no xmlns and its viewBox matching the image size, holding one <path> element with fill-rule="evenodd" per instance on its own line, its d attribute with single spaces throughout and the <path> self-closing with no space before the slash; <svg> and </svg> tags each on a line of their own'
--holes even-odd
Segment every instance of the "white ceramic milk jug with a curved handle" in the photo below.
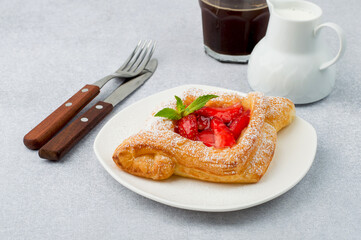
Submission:
<svg viewBox="0 0 361 240">
<path fill-rule="evenodd" d="M 326 97 L 335 83 L 332 65 L 343 55 L 342 29 L 334 23 L 320 24 L 322 10 L 301 0 L 267 1 L 270 20 L 266 36 L 254 48 L 248 66 L 252 89 L 282 96 L 296 104 Z M 332 58 L 326 42 L 318 37 L 323 27 L 334 29 L 339 51 Z"/>
</svg>

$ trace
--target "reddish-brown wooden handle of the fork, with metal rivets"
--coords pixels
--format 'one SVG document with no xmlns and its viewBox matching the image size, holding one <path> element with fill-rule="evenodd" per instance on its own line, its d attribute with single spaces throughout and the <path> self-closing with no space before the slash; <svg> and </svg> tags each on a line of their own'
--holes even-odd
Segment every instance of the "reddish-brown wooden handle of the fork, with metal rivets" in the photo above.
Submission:
<svg viewBox="0 0 361 240">
<path fill-rule="evenodd" d="M 96 95 L 100 88 L 95 85 L 85 85 L 64 104 L 52 112 L 24 137 L 24 144 L 29 149 L 39 149 L 62 129 L 81 109 Z"/>
</svg>

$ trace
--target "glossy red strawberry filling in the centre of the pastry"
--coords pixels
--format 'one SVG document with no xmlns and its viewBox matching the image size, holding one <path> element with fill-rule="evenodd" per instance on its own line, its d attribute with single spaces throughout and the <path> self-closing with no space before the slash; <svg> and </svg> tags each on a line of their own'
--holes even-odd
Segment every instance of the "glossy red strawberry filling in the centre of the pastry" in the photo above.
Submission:
<svg viewBox="0 0 361 240">
<path fill-rule="evenodd" d="M 208 147 L 232 147 L 249 120 L 250 111 L 243 111 L 241 104 L 227 108 L 203 107 L 178 120 L 174 131 L 185 138 L 202 141 Z"/>
</svg>

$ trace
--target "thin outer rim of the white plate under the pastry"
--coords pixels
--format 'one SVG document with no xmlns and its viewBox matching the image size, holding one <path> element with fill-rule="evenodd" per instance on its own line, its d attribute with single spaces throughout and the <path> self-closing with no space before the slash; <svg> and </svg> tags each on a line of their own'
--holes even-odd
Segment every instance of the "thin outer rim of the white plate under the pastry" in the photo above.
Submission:
<svg viewBox="0 0 361 240">
<path fill-rule="evenodd" d="M 156 201 L 156 202 L 159 202 L 159 203 L 162 203 L 162 204 L 165 204 L 165 205 L 168 205 L 168 206 L 171 206 L 171 207 L 176 207 L 176 208 L 180 208 L 180 209 L 186 209 L 186 210 L 192 210 L 192 211 L 202 211 L 202 212 L 231 212 L 231 211 L 237 211 L 237 210 L 242 210 L 242 209 L 246 209 L 246 208 L 251 208 L 251 207 L 254 207 L 254 206 L 257 206 L 257 205 L 260 205 L 260 204 L 263 204 L 265 202 L 268 202 L 272 199 L 275 199 L 281 195 L 283 195 L 284 193 L 286 193 L 287 191 L 289 191 L 290 189 L 292 189 L 294 186 L 296 186 L 305 176 L 306 174 L 309 172 L 314 160 L 315 160 L 315 156 L 316 156 L 316 152 L 317 152 L 317 133 L 316 133 L 316 130 L 315 128 L 309 123 L 307 122 L 306 120 L 302 119 L 301 117 L 298 117 L 296 116 L 296 118 L 298 120 L 301 120 L 303 123 L 305 123 L 306 125 L 308 125 L 308 127 L 310 127 L 310 130 L 312 130 L 312 134 L 314 135 L 314 138 L 315 138 L 315 147 L 314 147 L 314 151 L 312 153 L 312 160 L 310 161 L 310 164 L 308 165 L 307 169 L 305 169 L 305 171 L 300 175 L 299 179 L 297 179 L 296 181 L 294 181 L 293 184 L 287 186 L 286 188 L 284 188 L 283 190 L 279 191 L 278 193 L 276 194 L 269 194 L 267 197 L 264 197 L 262 198 L 261 200 L 259 201 L 255 201 L 255 202 L 252 202 L 251 204 L 243 204 L 243 205 L 238 205 L 238 206 L 229 206 L 229 207 L 203 207 L 203 206 L 199 206 L 199 205 L 189 205 L 189 204 L 182 204 L 182 203 L 177 203 L 177 202 L 173 202 L 173 201 L 170 201 L 170 200 L 167 200 L 167 199 L 164 199 L 164 198 L 161 198 L 161 197 L 158 197 L 152 193 L 148 193 L 148 192 L 145 192 L 143 190 L 140 190 L 139 188 L 137 187 L 134 187 L 133 185 L 131 185 L 130 183 L 128 183 L 127 181 L 124 181 L 121 177 L 119 177 L 119 175 L 117 175 L 110 167 L 108 167 L 108 165 L 105 163 L 105 161 L 102 160 L 102 157 L 100 155 L 100 153 L 98 152 L 98 149 L 96 147 L 96 143 L 98 142 L 98 139 L 100 138 L 101 136 L 101 132 L 103 131 L 103 129 L 105 129 L 107 127 L 107 125 L 111 122 L 111 120 L 116 117 L 118 114 L 120 114 L 122 111 L 124 110 L 127 110 L 129 108 L 132 108 L 133 105 L 137 104 L 138 102 L 140 101 L 144 101 L 148 98 L 151 98 L 153 97 L 154 95 L 158 95 L 158 94 L 162 94 L 162 93 L 165 93 L 165 92 L 169 92 L 169 91 L 175 91 L 177 89 L 180 89 L 183 91 L 185 89 L 188 89 L 188 88 L 213 88 L 214 90 L 218 90 L 218 91 L 227 91 L 227 92 L 237 92 L 241 95 L 245 95 L 246 93 L 243 93 L 243 92 L 239 92 L 239 91 L 235 91 L 235 90 L 231 90 L 231 89 L 225 89 L 225 88 L 221 88 L 221 87 L 216 87 L 216 86 L 210 86 L 210 85 L 198 85 L 198 84 L 185 84 L 185 85 L 179 85 L 177 87 L 174 87 L 174 88 L 169 88 L 169 89 L 166 89 L 166 90 L 163 90 L 163 91 L 160 91 L 160 92 L 157 92 L 157 93 L 154 93 L 150 96 L 147 96 L 145 98 L 142 98 L 134 103 L 132 103 L 131 105 L 123 108 L 122 110 L 120 110 L 118 113 L 116 113 L 112 118 L 110 118 L 106 124 L 100 129 L 100 131 L 98 132 L 95 140 L 94 140 L 94 143 L 93 143 L 93 150 L 95 152 L 95 155 L 98 159 L 98 161 L 100 162 L 100 164 L 103 166 L 103 168 L 118 182 L 120 183 L 121 185 L 123 185 L 124 187 L 128 188 L 129 190 L 143 196 L 143 197 L 146 197 L 148 199 L 151 199 L 153 201 Z"/>
</svg>

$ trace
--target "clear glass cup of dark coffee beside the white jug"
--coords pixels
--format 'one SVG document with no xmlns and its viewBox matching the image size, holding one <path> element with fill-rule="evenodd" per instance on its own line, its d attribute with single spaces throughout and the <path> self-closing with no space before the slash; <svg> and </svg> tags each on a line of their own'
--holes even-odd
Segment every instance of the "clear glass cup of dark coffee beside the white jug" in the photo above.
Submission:
<svg viewBox="0 0 361 240">
<path fill-rule="evenodd" d="M 266 34 L 266 0 L 198 1 L 205 52 L 221 62 L 247 63 L 254 46 Z"/>
</svg>

